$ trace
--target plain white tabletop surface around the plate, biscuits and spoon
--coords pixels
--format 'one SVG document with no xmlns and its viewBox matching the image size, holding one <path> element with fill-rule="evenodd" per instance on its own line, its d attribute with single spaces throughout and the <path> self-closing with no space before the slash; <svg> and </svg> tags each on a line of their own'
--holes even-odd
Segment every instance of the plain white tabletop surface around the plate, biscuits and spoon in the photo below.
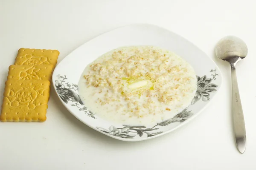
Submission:
<svg viewBox="0 0 256 170">
<path fill-rule="evenodd" d="M 57 49 L 60 62 L 93 37 L 131 23 L 180 34 L 214 59 L 223 74 L 220 91 L 201 115 L 143 142 L 122 142 L 90 129 L 52 88 L 46 122 L 0 123 L 0 169 L 255 170 L 255 8 L 253 0 L 0 0 L 0 101 L 19 48 Z M 229 34 L 249 48 L 237 65 L 247 130 L 243 155 L 233 139 L 230 67 L 214 55 L 216 42 Z"/>
</svg>

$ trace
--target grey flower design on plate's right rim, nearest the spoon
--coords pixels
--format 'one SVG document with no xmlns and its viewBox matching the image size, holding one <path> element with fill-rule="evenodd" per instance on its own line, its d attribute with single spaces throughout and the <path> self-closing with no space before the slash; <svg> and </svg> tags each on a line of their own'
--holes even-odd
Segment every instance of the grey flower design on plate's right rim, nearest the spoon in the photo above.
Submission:
<svg viewBox="0 0 256 170">
<path fill-rule="evenodd" d="M 216 70 L 211 70 L 210 72 L 212 73 L 212 78 L 207 78 L 206 75 L 204 75 L 203 77 L 197 76 L 197 91 L 195 93 L 194 99 L 191 102 L 192 105 L 194 105 L 200 99 L 202 99 L 202 101 L 204 102 L 209 101 L 210 93 L 217 91 L 216 88 L 218 87 L 218 85 L 215 85 L 211 82 L 216 79 L 216 76 L 218 76 L 218 74 L 216 74 Z"/>
</svg>

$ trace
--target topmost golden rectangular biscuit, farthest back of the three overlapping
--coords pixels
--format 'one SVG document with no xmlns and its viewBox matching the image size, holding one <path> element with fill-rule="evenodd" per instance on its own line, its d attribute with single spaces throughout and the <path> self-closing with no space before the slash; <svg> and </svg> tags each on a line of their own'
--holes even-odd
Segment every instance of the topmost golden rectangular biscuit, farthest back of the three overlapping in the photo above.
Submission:
<svg viewBox="0 0 256 170">
<path fill-rule="evenodd" d="M 20 48 L 15 60 L 15 65 L 56 65 L 58 50 L 40 50 L 30 48 Z"/>
</svg>

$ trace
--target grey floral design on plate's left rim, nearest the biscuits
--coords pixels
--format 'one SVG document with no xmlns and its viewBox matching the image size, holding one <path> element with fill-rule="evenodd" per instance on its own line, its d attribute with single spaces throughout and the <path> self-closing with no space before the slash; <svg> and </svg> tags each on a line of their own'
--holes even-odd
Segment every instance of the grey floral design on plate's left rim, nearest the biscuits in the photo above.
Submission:
<svg viewBox="0 0 256 170">
<path fill-rule="evenodd" d="M 71 106 L 77 107 L 79 111 L 83 111 L 87 114 L 87 116 L 96 119 L 96 117 L 93 116 L 94 114 L 83 106 L 83 102 L 81 101 L 79 95 L 76 93 L 76 91 L 78 91 L 78 85 L 70 85 L 69 82 L 64 83 L 67 80 L 66 75 L 64 75 L 64 77 L 57 75 L 57 77 L 59 80 L 55 80 L 55 87 L 61 100 L 66 104 L 68 102 L 72 102 Z"/>
</svg>

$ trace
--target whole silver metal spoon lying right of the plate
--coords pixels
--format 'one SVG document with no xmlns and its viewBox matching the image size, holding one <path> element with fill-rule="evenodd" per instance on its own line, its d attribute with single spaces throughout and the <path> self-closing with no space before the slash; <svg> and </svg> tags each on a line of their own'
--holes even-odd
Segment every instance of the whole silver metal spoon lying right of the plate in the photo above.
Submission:
<svg viewBox="0 0 256 170">
<path fill-rule="evenodd" d="M 236 137 L 236 146 L 240 153 L 246 148 L 246 132 L 244 125 L 244 114 L 238 90 L 236 78 L 236 63 L 246 57 L 247 46 L 243 40 L 234 36 L 222 38 L 215 48 L 216 56 L 231 65 L 232 94 L 233 94 L 233 128 Z"/>
</svg>

